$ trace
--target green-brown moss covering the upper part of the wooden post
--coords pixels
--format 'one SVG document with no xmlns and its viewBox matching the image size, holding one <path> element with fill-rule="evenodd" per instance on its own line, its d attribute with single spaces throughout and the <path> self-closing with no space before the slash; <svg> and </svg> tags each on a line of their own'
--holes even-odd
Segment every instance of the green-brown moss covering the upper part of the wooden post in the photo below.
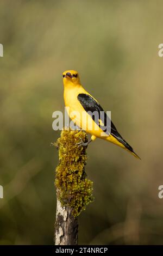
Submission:
<svg viewBox="0 0 163 256">
<path fill-rule="evenodd" d="M 87 142 L 84 131 L 63 130 L 58 139 L 59 164 L 55 170 L 55 186 L 62 206 L 70 206 L 77 217 L 92 202 L 93 182 L 86 178 L 84 170 L 86 148 L 76 145 L 80 138 Z"/>
</svg>

